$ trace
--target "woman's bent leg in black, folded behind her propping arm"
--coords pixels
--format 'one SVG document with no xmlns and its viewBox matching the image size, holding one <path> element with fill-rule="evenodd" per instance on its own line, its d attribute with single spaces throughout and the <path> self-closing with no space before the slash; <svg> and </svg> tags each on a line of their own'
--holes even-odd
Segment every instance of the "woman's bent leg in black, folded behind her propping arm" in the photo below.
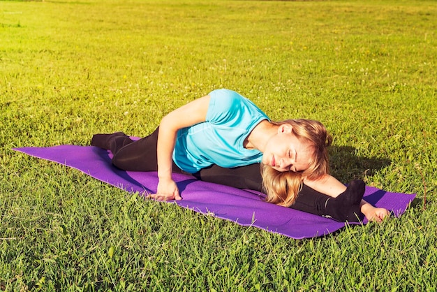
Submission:
<svg viewBox="0 0 437 292">
<path fill-rule="evenodd" d="M 159 128 L 140 140 L 132 140 L 120 132 L 97 134 L 93 136 L 91 145 L 110 150 L 114 155 L 112 164 L 117 168 L 131 171 L 156 171 L 158 170 L 156 158 L 158 131 Z M 173 163 L 173 172 L 182 173 L 182 170 Z"/>
</svg>

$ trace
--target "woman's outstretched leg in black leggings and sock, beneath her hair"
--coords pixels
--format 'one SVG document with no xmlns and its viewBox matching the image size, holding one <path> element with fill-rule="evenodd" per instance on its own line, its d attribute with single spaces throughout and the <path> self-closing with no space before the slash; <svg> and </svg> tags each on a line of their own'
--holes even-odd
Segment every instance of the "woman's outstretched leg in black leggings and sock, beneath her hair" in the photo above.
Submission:
<svg viewBox="0 0 437 292">
<path fill-rule="evenodd" d="M 205 182 L 225 184 L 238 189 L 262 191 L 259 163 L 237 168 L 221 168 L 214 165 L 200 170 L 195 177 Z M 337 198 L 322 194 L 304 184 L 291 208 L 330 217 L 337 221 L 356 222 L 359 221 L 358 216 L 361 214 L 360 201 L 363 194 L 364 182 L 362 181 L 351 182 Z"/>
</svg>

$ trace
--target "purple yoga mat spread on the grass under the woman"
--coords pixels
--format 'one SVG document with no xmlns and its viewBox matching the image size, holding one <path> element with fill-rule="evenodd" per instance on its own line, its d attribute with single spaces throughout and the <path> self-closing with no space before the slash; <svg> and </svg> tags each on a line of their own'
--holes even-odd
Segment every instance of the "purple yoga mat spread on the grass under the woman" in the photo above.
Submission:
<svg viewBox="0 0 437 292">
<path fill-rule="evenodd" d="M 61 145 L 14 150 L 76 168 L 97 180 L 132 193 L 153 194 L 158 185 L 156 173 L 119 170 L 112 166 L 110 152 L 93 146 Z M 265 203 L 262 201 L 263 194 L 255 191 L 202 182 L 187 175 L 174 175 L 174 179 L 183 200 L 170 202 L 195 212 L 235 221 L 242 226 L 254 226 L 295 239 L 327 235 L 346 226 L 343 222 Z M 391 210 L 394 217 L 399 217 L 415 195 L 366 187 L 364 198 L 377 207 Z M 364 219 L 363 224 L 366 223 Z"/>
</svg>

